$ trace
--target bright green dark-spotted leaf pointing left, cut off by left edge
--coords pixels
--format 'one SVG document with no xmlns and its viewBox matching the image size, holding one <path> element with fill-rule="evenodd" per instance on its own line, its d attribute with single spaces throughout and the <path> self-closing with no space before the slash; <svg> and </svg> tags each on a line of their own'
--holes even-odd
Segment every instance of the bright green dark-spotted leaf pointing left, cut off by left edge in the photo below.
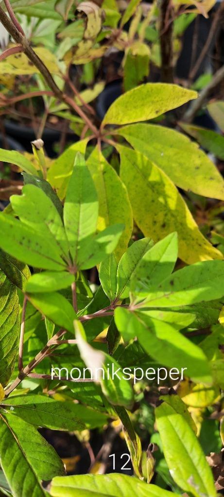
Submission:
<svg viewBox="0 0 224 497">
<path fill-rule="evenodd" d="M 21 262 L 31 266 L 63 271 L 66 264 L 60 256 L 59 249 L 55 248 L 52 239 L 46 239 L 30 226 L 25 226 L 18 219 L 0 214 L 0 248 L 16 256 Z"/>
</svg>

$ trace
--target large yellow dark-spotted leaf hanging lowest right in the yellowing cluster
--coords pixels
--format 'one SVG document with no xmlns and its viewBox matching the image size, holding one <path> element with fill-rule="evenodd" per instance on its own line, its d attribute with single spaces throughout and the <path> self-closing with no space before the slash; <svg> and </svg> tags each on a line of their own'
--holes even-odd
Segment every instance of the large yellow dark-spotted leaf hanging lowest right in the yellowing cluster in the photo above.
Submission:
<svg viewBox="0 0 224 497">
<path fill-rule="evenodd" d="M 157 242 L 177 231 L 179 257 L 188 264 L 222 258 L 203 237 L 182 196 L 168 176 L 149 159 L 121 145 L 120 176 L 126 184 L 134 219 L 144 236 Z M 146 216 L 148 212 L 150 215 Z"/>
</svg>

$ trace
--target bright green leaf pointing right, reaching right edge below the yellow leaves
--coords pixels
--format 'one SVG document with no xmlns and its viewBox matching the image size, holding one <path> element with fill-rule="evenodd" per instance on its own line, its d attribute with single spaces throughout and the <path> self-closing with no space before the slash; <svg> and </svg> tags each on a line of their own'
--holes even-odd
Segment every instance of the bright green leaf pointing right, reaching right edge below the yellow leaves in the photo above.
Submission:
<svg viewBox="0 0 224 497">
<path fill-rule="evenodd" d="M 224 295 L 224 261 L 205 260 L 183 267 L 147 294 L 144 307 L 172 307 L 220 299 Z M 142 294 L 143 295 L 143 294 Z"/>
</svg>

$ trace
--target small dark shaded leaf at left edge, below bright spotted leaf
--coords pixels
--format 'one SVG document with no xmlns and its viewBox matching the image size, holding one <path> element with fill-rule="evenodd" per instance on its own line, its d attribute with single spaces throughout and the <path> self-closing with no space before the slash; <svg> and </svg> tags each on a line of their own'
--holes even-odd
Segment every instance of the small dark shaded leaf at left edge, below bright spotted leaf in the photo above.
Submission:
<svg viewBox="0 0 224 497">
<path fill-rule="evenodd" d="M 31 275 L 26 264 L 19 262 L 19 260 L 0 249 L 0 268 L 15 286 L 24 291 L 26 282 Z"/>
</svg>

